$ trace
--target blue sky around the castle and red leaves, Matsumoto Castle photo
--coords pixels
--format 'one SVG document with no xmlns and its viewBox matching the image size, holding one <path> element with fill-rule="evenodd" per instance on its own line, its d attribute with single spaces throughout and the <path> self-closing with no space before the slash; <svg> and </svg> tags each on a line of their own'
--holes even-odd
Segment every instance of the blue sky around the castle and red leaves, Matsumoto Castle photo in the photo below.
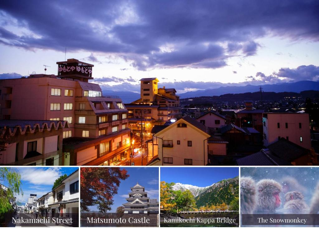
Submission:
<svg viewBox="0 0 319 239">
<path fill-rule="evenodd" d="M 127 202 L 125 198 L 129 197 L 130 188 L 134 187 L 137 182 L 145 187 L 150 199 L 159 200 L 159 169 L 157 167 L 125 167 L 125 169 L 130 177 L 121 180 L 117 194 L 113 197 L 114 204 L 109 212 L 116 212 L 117 207 Z M 96 206 L 91 206 L 90 210 L 98 211 Z"/>
</svg>

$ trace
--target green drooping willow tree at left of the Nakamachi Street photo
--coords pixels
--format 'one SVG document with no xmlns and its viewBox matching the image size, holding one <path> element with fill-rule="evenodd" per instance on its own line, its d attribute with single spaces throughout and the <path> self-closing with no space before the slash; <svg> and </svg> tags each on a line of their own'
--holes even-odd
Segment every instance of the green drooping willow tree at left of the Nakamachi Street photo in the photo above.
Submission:
<svg viewBox="0 0 319 239">
<path fill-rule="evenodd" d="M 8 186 L 2 185 L 4 182 Z M 14 168 L 2 167 L 0 168 L 0 183 L 0 214 L 4 214 L 12 209 L 10 199 L 14 198 L 15 194 L 23 195 L 21 175 Z"/>
</svg>

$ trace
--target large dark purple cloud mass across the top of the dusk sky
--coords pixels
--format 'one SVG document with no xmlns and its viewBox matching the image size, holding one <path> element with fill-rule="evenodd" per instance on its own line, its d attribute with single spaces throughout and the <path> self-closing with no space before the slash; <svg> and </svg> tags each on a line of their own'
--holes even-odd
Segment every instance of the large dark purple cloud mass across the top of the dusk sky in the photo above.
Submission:
<svg viewBox="0 0 319 239">
<path fill-rule="evenodd" d="M 316 0 L 2 1 L 0 43 L 111 53 L 140 70 L 220 68 L 255 55 L 266 35 L 318 41 L 317 9 Z"/>
</svg>

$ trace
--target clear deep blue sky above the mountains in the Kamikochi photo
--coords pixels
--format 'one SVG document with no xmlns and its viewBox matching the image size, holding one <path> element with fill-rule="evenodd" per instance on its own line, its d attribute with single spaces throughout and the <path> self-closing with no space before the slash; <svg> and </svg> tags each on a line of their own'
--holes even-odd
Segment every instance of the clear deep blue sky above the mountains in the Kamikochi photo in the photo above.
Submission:
<svg viewBox="0 0 319 239">
<path fill-rule="evenodd" d="M 239 175 L 237 167 L 162 167 L 160 180 L 167 183 L 182 183 L 198 187 L 210 186 L 223 179 Z"/>
</svg>

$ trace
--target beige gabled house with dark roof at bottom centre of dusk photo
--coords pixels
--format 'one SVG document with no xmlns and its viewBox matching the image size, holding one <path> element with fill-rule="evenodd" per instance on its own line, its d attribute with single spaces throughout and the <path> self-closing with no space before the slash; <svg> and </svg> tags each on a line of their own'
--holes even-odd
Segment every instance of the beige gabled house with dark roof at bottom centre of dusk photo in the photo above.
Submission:
<svg viewBox="0 0 319 239">
<path fill-rule="evenodd" d="M 208 163 L 207 127 L 189 116 L 152 131 L 147 145 L 147 165 L 206 165 Z"/>
</svg>

